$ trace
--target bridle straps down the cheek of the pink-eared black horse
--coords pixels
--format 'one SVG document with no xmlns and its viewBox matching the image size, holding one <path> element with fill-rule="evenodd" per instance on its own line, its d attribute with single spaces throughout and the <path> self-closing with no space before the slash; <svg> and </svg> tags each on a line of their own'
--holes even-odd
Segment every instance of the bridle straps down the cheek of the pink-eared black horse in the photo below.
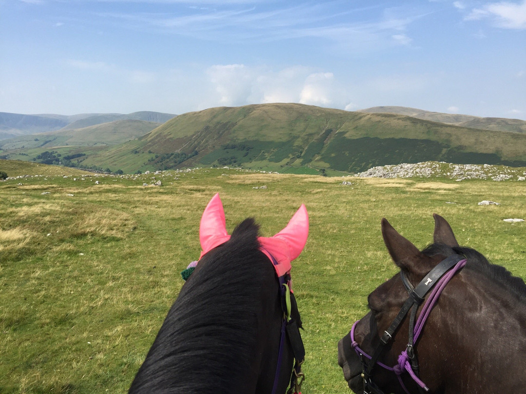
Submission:
<svg viewBox="0 0 526 394">
<path fill-rule="evenodd" d="M 277 264 L 274 257 L 272 263 Z M 301 394 L 301 385 L 305 380 L 305 374 L 301 370 L 301 365 L 305 361 L 305 347 L 301 340 L 301 333 L 299 332 L 298 323 L 291 318 L 291 302 L 290 302 L 290 274 L 282 275 L 279 280 L 279 293 L 281 299 L 281 309 L 283 311 L 283 320 L 281 322 L 281 334 L 279 340 L 278 363 L 276 366 L 276 375 L 274 377 L 274 385 L 272 386 L 272 394 L 276 394 L 278 389 L 279 374 L 281 371 L 281 362 L 285 350 L 285 337 L 288 337 L 292 353 L 294 354 L 294 369 L 290 377 L 290 388 L 287 394 Z"/>
</svg>

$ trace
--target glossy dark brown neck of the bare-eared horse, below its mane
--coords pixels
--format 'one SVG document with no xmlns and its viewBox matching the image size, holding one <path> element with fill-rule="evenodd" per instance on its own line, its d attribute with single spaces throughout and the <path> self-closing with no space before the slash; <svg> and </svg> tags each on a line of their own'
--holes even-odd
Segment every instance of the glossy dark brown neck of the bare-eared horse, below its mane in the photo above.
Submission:
<svg viewBox="0 0 526 394">
<path fill-rule="evenodd" d="M 484 275 L 467 276 L 448 284 L 430 315 L 418 344 L 424 376 L 443 377 L 444 389 L 435 392 L 520 392 L 526 386 L 526 304 Z M 427 337 L 431 332 L 439 335 Z"/>
</svg>

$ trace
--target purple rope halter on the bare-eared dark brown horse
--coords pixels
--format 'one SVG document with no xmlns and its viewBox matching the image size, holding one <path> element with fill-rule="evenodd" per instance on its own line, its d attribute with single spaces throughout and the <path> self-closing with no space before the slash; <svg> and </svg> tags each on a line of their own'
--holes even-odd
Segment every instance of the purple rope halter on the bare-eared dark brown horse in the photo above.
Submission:
<svg viewBox="0 0 526 394">
<path fill-rule="evenodd" d="M 417 339 L 420 336 L 420 333 L 422 332 L 424 324 L 426 323 L 429 317 L 429 314 L 431 313 L 431 310 L 438 302 L 438 298 L 440 297 L 442 290 L 444 290 L 444 288 L 449 283 L 451 278 L 453 278 L 453 275 L 456 274 L 462 267 L 464 267 L 464 265 L 466 265 L 466 261 L 467 261 L 466 259 L 460 260 L 451 270 L 449 270 L 446 274 L 444 274 L 439 279 L 439 281 L 437 282 L 437 284 L 431 291 L 426 303 L 424 303 L 422 311 L 420 312 L 417 323 L 414 326 L 414 330 L 413 330 L 414 343 L 417 342 Z M 351 328 L 351 332 L 350 332 L 351 341 L 352 341 L 351 346 L 355 349 L 358 356 L 363 355 L 369 360 L 371 360 L 372 357 L 369 356 L 369 354 L 364 352 L 362 349 L 360 349 L 360 347 L 358 346 L 358 342 L 355 341 L 355 328 L 358 322 L 359 320 L 357 320 L 352 325 L 352 328 Z M 409 390 L 406 388 L 406 386 L 403 384 L 402 377 L 401 377 L 403 372 L 408 372 L 411 378 L 417 383 L 418 386 L 420 386 L 422 389 L 426 391 L 429 391 L 429 388 L 426 386 L 426 384 L 416 376 L 413 369 L 411 368 L 411 363 L 409 362 L 407 350 L 404 350 L 400 353 L 400 355 L 398 356 L 398 364 L 394 367 L 388 367 L 379 361 L 377 361 L 376 363 L 384 369 L 395 372 L 400 382 L 400 385 L 402 386 L 404 391 L 406 391 L 407 394 L 410 394 L 410 393 L 409 393 Z"/>
</svg>

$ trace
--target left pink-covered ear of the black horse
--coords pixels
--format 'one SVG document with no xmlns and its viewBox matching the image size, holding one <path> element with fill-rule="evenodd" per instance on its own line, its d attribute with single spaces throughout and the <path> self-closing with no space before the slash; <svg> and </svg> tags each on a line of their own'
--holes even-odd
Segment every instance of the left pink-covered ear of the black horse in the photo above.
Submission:
<svg viewBox="0 0 526 394">
<path fill-rule="evenodd" d="M 208 203 L 201 216 L 201 223 L 199 225 L 199 241 L 201 243 L 201 257 L 210 250 L 225 243 L 230 239 L 228 235 L 225 210 L 223 203 L 217 193 Z"/>
</svg>

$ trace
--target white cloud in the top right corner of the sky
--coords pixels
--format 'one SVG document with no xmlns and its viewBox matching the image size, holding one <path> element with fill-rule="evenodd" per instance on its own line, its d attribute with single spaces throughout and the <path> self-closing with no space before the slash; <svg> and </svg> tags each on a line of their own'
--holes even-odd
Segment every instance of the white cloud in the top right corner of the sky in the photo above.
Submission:
<svg viewBox="0 0 526 394">
<path fill-rule="evenodd" d="M 526 29 L 526 0 L 521 3 L 498 2 L 474 8 L 466 20 L 491 18 L 493 24 L 509 29 Z"/>
</svg>

